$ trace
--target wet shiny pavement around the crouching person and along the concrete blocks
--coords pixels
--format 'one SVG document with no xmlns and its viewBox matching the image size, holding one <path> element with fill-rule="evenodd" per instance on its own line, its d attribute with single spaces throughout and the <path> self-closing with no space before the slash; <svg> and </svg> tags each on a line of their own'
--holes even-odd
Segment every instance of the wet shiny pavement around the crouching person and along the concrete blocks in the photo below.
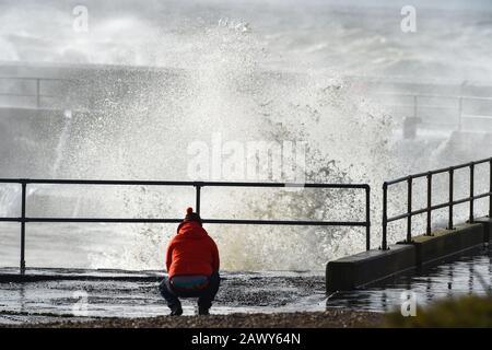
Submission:
<svg viewBox="0 0 492 350">
<path fill-rule="evenodd" d="M 409 293 L 422 306 L 437 299 L 491 292 L 491 249 L 484 247 L 384 284 L 331 295 L 325 293 L 323 271 L 223 272 L 211 313 L 271 314 L 337 308 L 380 313 L 398 310 Z M 159 271 L 30 269 L 28 273 L 62 279 L 0 282 L 0 324 L 168 314 L 157 292 L 162 278 Z M 196 313 L 195 300 L 184 300 L 183 305 L 185 315 Z"/>
</svg>

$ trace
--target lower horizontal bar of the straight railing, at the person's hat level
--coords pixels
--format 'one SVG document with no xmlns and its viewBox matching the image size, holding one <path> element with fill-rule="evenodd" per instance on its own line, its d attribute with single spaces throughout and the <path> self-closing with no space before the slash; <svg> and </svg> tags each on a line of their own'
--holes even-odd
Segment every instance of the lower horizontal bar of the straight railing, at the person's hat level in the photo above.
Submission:
<svg viewBox="0 0 492 350">
<path fill-rule="evenodd" d="M 179 223 L 183 219 L 97 219 L 97 218 L 0 218 L 2 222 L 34 223 Z M 366 226 L 368 222 L 360 221 L 312 221 L 312 220 L 232 220 L 203 219 L 212 224 L 262 224 L 262 225 L 312 225 L 312 226 Z"/>
</svg>

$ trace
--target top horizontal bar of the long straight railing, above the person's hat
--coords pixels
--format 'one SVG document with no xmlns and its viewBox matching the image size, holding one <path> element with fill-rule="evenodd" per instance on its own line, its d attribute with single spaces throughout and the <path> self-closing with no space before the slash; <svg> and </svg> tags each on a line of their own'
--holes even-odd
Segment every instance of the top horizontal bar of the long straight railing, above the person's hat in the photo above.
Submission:
<svg viewBox="0 0 492 350">
<path fill-rule="evenodd" d="M 233 183 L 233 182 L 155 182 L 155 180 L 79 180 L 0 178 L 0 184 L 32 185 L 109 185 L 109 186 L 211 186 L 211 187 L 286 187 L 286 188 L 368 188 L 366 184 L 290 184 L 290 183 Z"/>
</svg>

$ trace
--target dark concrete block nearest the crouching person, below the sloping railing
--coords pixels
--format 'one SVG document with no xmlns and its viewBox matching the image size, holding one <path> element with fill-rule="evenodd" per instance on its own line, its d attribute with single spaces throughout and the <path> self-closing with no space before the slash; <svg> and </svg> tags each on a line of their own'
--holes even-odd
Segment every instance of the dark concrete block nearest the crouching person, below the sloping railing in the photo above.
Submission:
<svg viewBox="0 0 492 350">
<path fill-rule="evenodd" d="M 411 270 L 415 266 L 414 246 L 390 245 L 389 250 L 368 250 L 329 261 L 326 266 L 327 292 L 353 290 L 371 282 Z"/>
</svg>

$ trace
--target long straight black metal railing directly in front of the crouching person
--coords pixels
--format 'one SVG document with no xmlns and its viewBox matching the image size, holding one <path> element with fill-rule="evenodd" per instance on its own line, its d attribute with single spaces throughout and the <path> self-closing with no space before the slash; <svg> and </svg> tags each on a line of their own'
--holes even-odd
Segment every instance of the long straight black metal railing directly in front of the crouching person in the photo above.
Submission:
<svg viewBox="0 0 492 350">
<path fill-rule="evenodd" d="M 94 186 L 189 186 L 195 187 L 195 208 L 200 213 L 201 189 L 203 187 L 272 187 L 272 188 L 338 188 L 363 189 L 365 191 L 365 221 L 314 221 L 314 220 L 231 220 L 203 219 L 215 224 L 259 224 L 259 225 L 312 225 L 312 226 L 363 226 L 366 234 L 366 249 L 371 248 L 371 187 L 366 184 L 286 184 L 286 183 L 225 183 L 225 182 L 143 182 L 143 180 L 72 180 L 72 179 L 0 179 L 0 184 L 19 184 L 22 187 L 20 218 L 0 218 L 0 222 L 21 223 L 20 272 L 25 273 L 25 229 L 30 222 L 50 223 L 178 223 L 183 219 L 102 219 L 102 218 L 28 218 L 26 217 L 28 185 L 94 185 Z"/>
</svg>

